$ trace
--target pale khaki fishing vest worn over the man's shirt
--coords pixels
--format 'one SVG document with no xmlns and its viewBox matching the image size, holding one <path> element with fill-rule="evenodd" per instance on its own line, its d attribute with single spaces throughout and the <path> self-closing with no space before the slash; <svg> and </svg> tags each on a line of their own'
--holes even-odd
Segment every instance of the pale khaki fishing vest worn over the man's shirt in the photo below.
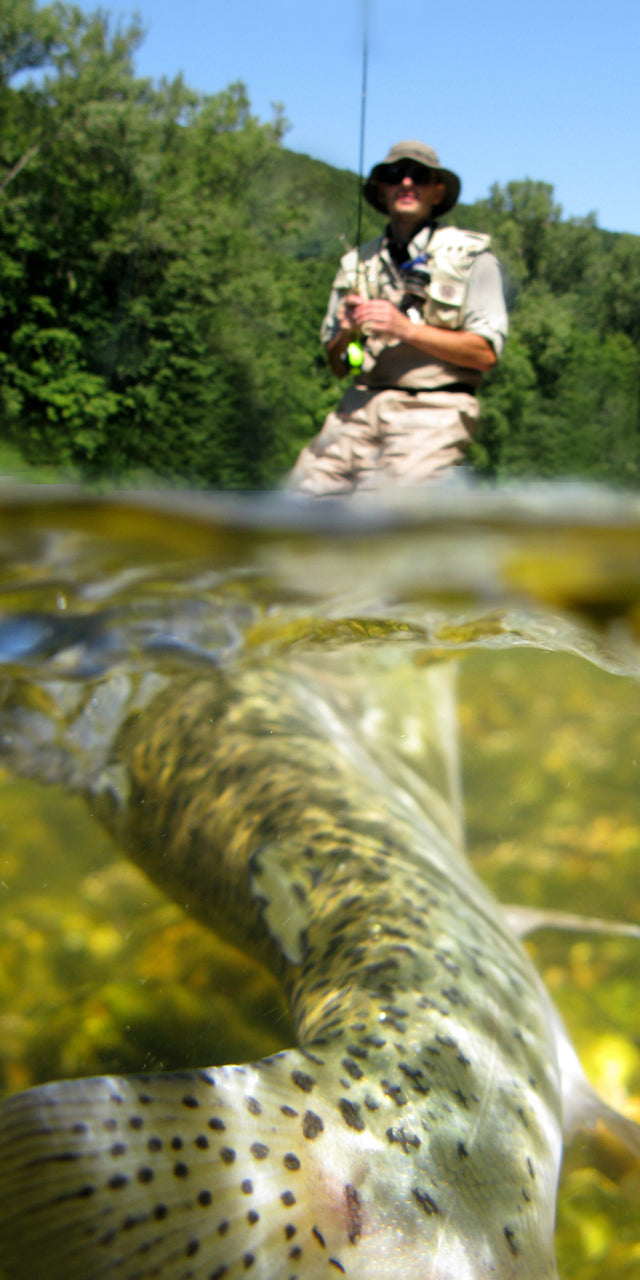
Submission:
<svg viewBox="0 0 640 1280">
<path fill-rule="evenodd" d="M 428 324 L 440 329 L 460 329 L 467 294 L 468 276 L 479 253 L 489 248 L 490 237 L 479 232 L 461 230 L 458 227 L 438 227 L 434 232 L 424 228 L 411 242 L 411 257 L 424 262 L 421 297 L 416 306 Z M 407 294 L 412 297 L 411 273 L 406 282 L 402 271 L 393 268 L 384 252 L 384 237 L 365 244 L 360 266 L 355 251 L 343 259 L 343 270 L 365 297 L 388 298 L 402 306 Z"/>
</svg>

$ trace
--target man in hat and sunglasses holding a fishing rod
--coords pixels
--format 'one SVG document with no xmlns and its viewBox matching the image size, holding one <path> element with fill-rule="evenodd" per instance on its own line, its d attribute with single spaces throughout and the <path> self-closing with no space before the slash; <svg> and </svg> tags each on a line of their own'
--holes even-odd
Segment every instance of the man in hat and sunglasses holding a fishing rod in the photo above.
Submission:
<svg viewBox="0 0 640 1280">
<path fill-rule="evenodd" d="M 422 142 L 397 142 L 371 169 L 364 196 L 389 223 L 342 259 L 321 328 L 334 374 L 356 379 L 302 449 L 291 488 L 332 497 L 419 485 L 465 460 L 508 321 L 489 237 L 438 225 L 460 189 Z"/>
</svg>

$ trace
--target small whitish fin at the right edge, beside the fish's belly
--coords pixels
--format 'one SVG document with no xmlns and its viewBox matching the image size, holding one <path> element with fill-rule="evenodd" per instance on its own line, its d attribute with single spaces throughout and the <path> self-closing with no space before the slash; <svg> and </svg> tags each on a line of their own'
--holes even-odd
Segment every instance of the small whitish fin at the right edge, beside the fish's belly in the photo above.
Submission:
<svg viewBox="0 0 640 1280">
<path fill-rule="evenodd" d="M 564 1142 L 570 1142 L 580 1129 L 594 1130 L 603 1126 L 640 1160 L 640 1124 L 609 1106 L 594 1089 L 584 1073 L 561 1015 L 552 1004 L 550 1009 L 561 1073 Z"/>
</svg>

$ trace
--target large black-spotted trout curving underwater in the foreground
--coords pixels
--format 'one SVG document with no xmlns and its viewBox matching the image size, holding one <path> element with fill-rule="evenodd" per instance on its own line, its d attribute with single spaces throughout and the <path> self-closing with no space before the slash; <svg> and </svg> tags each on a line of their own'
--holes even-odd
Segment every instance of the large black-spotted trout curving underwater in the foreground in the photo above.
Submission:
<svg viewBox="0 0 640 1280">
<path fill-rule="evenodd" d="M 600 1119 L 640 1156 L 465 858 L 449 668 L 413 678 L 420 777 L 330 662 L 5 700 L 13 767 L 82 787 L 269 965 L 297 1033 L 248 1065 L 9 1098 L 6 1280 L 554 1280 L 563 1140 Z"/>
</svg>

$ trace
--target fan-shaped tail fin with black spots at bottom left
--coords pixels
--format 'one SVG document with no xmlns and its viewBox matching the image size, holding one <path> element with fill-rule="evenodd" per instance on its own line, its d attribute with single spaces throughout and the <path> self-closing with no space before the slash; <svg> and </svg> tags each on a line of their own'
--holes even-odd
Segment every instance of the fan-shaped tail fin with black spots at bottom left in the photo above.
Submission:
<svg viewBox="0 0 640 1280">
<path fill-rule="evenodd" d="M 253 1261 L 271 1280 L 335 1277 L 361 1204 L 317 1074 L 292 1051 L 10 1097 L 0 1107 L 5 1280 L 236 1280 Z"/>
</svg>

